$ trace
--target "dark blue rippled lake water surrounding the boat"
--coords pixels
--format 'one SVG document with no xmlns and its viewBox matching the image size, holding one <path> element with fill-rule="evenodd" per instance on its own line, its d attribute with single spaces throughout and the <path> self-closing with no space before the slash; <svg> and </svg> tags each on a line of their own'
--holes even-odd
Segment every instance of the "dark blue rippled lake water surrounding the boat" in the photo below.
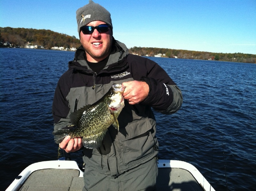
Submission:
<svg viewBox="0 0 256 191">
<path fill-rule="evenodd" d="M 52 99 L 73 58 L 66 51 L 0 49 L 0 190 L 29 164 L 59 157 Z M 215 190 L 255 189 L 256 65 L 149 58 L 184 99 L 177 113 L 156 113 L 159 158 L 193 164 Z"/>
</svg>

